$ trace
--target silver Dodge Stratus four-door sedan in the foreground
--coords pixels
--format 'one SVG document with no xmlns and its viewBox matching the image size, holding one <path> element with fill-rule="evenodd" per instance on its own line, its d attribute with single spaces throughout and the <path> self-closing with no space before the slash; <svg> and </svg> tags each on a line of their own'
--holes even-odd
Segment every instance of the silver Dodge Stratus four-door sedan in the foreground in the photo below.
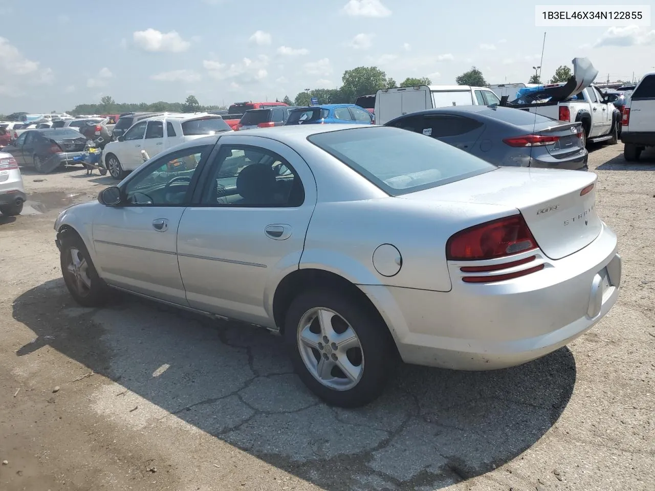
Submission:
<svg viewBox="0 0 655 491">
<path fill-rule="evenodd" d="M 399 357 L 510 367 L 603 318 L 621 259 L 596 191 L 398 128 L 286 126 L 178 145 L 54 228 L 79 304 L 113 288 L 261 325 L 310 390 L 356 407 Z"/>
</svg>

